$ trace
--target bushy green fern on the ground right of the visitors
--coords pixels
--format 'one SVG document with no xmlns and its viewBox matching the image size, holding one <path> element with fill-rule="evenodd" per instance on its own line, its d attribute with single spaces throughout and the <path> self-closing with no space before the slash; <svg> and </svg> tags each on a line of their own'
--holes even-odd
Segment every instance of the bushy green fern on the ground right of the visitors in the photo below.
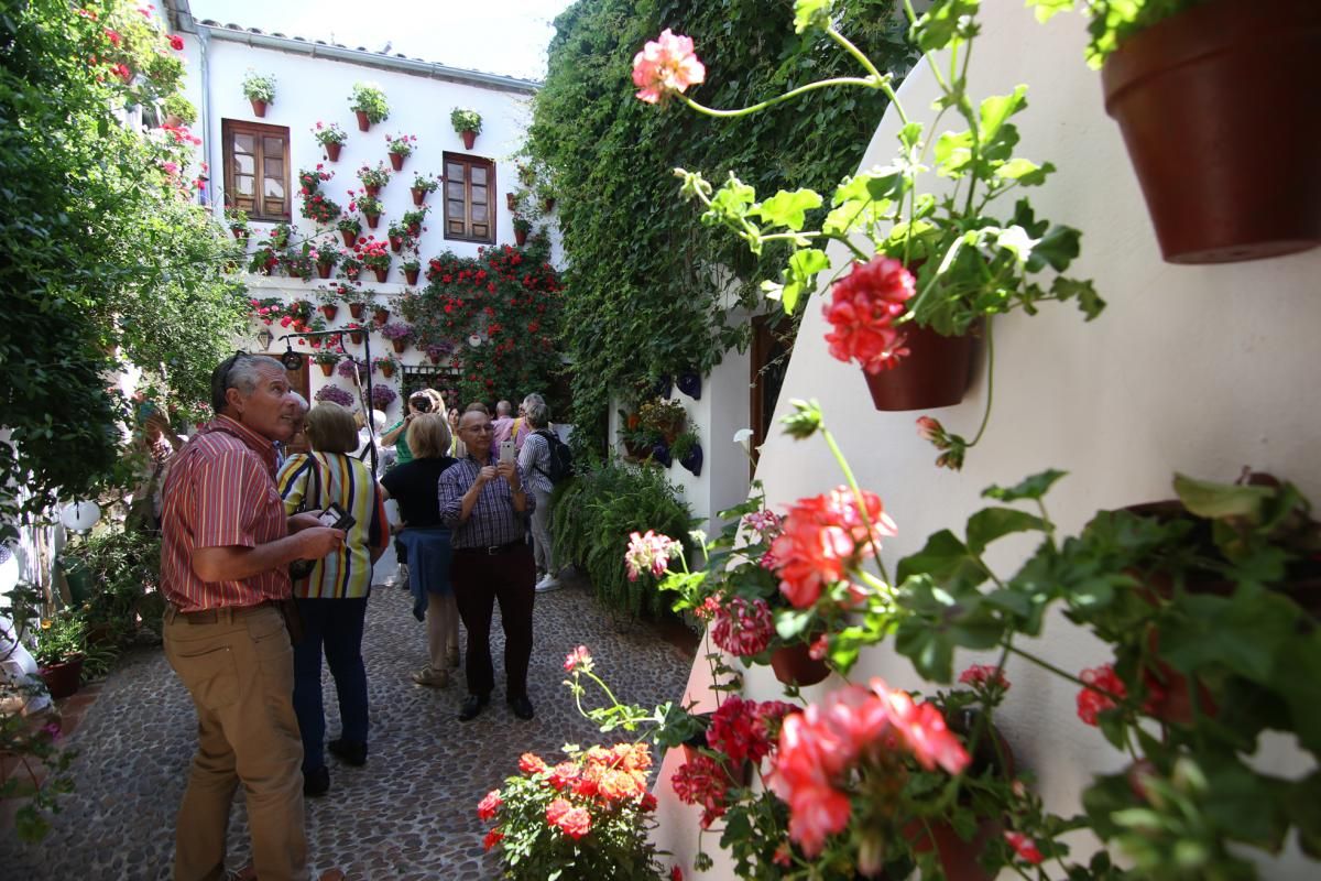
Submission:
<svg viewBox="0 0 1321 881">
<path fill-rule="evenodd" d="M 601 602 L 630 614 L 666 609 L 653 581 L 629 581 L 624 567 L 630 532 L 655 530 L 688 547 L 696 520 L 663 469 L 612 458 L 556 486 L 552 505 L 555 551 L 587 573 Z"/>
</svg>

